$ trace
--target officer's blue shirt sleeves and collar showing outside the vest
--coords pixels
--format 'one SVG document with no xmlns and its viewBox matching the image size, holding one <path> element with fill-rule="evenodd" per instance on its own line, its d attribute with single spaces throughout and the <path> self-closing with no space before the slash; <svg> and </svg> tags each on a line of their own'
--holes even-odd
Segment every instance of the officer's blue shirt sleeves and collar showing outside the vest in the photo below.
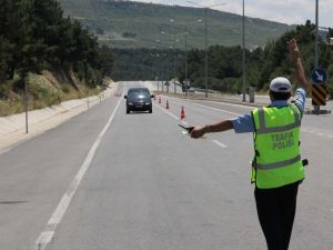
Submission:
<svg viewBox="0 0 333 250">
<path fill-rule="evenodd" d="M 304 111 L 305 104 L 305 96 L 306 92 L 304 89 L 299 88 L 295 91 L 295 96 L 293 98 L 293 102 L 299 107 L 301 113 Z M 289 102 L 285 100 L 278 100 L 272 101 L 272 107 L 285 107 L 289 106 Z M 246 133 L 246 132 L 254 132 L 254 124 L 251 113 L 239 116 L 235 119 L 232 119 L 233 129 L 236 133 Z"/>
</svg>

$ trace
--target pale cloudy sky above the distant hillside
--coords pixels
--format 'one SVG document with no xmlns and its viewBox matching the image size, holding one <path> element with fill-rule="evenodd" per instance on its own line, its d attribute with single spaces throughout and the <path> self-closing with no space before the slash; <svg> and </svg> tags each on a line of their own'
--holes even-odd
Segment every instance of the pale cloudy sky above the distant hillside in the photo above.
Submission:
<svg viewBox="0 0 333 250">
<path fill-rule="evenodd" d="M 198 7 L 185 0 L 135 1 Z M 213 9 L 242 14 L 242 0 L 193 0 L 193 2 L 204 6 L 213 6 L 225 2 L 228 4 L 215 7 Z M 314 23 L 315 0 L 245 0 L 245 16 L 287 24 L 303 24 L 307 19 Z M 333 0 L 319 0 L 319 26 L 333 27 Z"/>
</svg>

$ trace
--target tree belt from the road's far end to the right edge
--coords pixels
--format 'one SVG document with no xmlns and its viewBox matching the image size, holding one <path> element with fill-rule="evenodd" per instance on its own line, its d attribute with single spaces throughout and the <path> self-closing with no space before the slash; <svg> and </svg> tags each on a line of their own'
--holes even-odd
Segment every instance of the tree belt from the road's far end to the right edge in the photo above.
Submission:
<svg viewBox="0 0 333 250">
<path fill-rule="evenodd" d="M 315 26 L 310 21 L 286 31 L 278 40 L 268 42 L 264 47 L 258 47 L 245 51 L 246 56 L 246 88 L 254 87 L 258 91 L 265 92 L 271 79 L 284 76 L 292 80 L 293 67 L 287 58 L 286 42 L 295 38 L 301 49 L 301 57 L 305 74 L 311 81 L 311 71 L 314 70 L 314 41 Z M 333 46 L 327 44 L 333 37 L 333 29 L 320 37 L 320 67 L 329 73 L 329 92 L 333 97 Z M 127 56 L 128 54 L 128 56 Z M 188 78 L 191 86 L 205 88 L 204 54 L 202 49 L 188 51 Z M 242 91 L 242 48 L 211 46 L 208 50 L 209 58 L 209 89 L 240 93 Z M 174 78 L 181 82 L 185 79 L 185 56 L 180 50 L 115 50 L 114 51 L 115 79 L 131 76 L 132 80 L 170 80 Z M 138 62 L 141 64 L 138 67 Z M 142 70 L 144 69 L 144 70 Z"/>
</svg>

